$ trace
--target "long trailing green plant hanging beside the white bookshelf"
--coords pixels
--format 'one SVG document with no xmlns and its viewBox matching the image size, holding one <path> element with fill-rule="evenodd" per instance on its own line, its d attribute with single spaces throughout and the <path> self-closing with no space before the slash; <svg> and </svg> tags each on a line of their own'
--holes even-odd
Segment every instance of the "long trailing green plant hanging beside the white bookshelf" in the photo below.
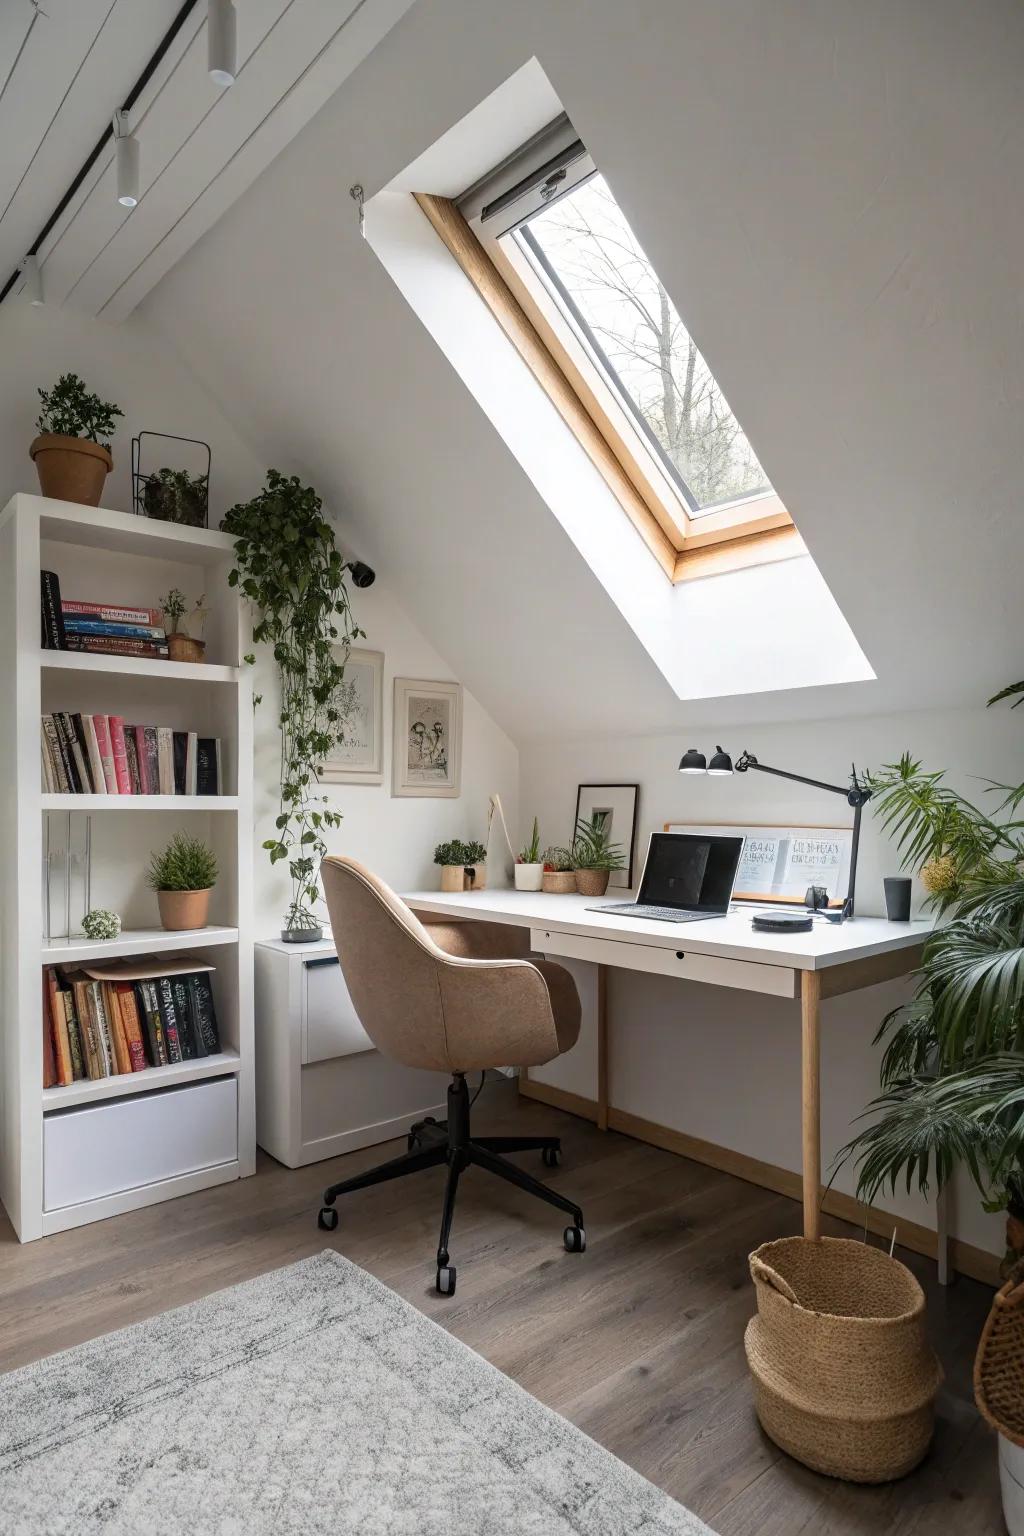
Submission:
<svg viewBox="0 0 1024 1536">
<path fill-rule="evenodd" d="M 364 633 L 348 602 L 350 565 L 335 547 L 319 496 L 295 475 L 267 470 L 266 487 L 232 507 L 221 528 L 235 539 L 229 584 L 255 608 L 253 641 L 272 648 L 281 679 L 281 805 L 276 836 L 263 846 L 272 865 L 289 865 L 286 929 L 316 929 L 324 829 L 341 825 L 318 793 L 318 774 L 338 739 L 336 694 L 348 647 Z"/>
</svg>

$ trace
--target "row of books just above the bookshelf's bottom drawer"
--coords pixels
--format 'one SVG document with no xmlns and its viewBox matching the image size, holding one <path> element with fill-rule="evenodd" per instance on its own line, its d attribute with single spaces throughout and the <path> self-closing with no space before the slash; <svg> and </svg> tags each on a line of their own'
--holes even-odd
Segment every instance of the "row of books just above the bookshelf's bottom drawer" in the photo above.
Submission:
<svg viewBox="0 0 1024 1536">
<path fill-rule="evenodd" d="M 216 1055 L 212 971 L 193 955 L 45 966 L 43 1087 Z"/>
</svg>

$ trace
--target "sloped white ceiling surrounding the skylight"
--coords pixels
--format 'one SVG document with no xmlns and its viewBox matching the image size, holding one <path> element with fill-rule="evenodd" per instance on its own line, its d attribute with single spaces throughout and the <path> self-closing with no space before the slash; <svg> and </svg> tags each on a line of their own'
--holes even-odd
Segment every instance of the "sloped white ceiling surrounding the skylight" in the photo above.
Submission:
<svg viewBox="0 0 1024 1536">
<path fill-rule="evenodd" d="M 348 184 L 534 55 L 877 682 L 680 705 L 359 240 Z M 513 736 L 978 702 L 1019 665 L 1022 63 L 1013 0 L 428 0 L 146 309 Z"/>
</svg>

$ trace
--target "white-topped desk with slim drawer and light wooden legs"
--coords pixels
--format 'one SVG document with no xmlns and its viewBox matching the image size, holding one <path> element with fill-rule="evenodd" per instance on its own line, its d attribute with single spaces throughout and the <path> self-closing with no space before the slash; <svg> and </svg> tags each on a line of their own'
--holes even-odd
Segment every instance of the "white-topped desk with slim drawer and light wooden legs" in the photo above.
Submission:
<svg viewBox="0 0 1024 1536">
<path fill-rule="evenodd" d="M 620 895 L 608 900 L 620 900 Z M 656 923 L 590 911 L 591 897 L 547 895 L 543 891 L 476 891 L 444 894 L 415 891 L 404 897 L 418 912 L 482 919 L 531 929 L 531 948 L 550 955 L 590 960 L 599 966 L 597 988 L 597 1124 L 608 1126 L 608 1064 L 605 966 L 648 971 L 731 986 L 748 992 L 800 1000 L 803 1230 L 820 1232 L 821 1200 L 821 1034 L 820 1005 L 826 997 L 855 992 L 913 971 L 930 920 L 889 923 L 857 917 L 832 926 L 815 922 L 809 934 L 761 934 L 749 911 L 734 911 L 702 923 Z"/>
</svg>

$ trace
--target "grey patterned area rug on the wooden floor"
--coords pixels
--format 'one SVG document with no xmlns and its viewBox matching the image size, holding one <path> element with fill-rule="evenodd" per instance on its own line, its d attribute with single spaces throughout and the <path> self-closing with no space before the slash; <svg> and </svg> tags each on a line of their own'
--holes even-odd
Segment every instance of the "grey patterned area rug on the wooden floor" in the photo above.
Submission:
<svg viewBox="0 0 1024 1536">
<path fill-rule="evenodd" d="M 5 1536 L 711 1536 L 330 1250 L 0 1376 Z"/>
</svg>

